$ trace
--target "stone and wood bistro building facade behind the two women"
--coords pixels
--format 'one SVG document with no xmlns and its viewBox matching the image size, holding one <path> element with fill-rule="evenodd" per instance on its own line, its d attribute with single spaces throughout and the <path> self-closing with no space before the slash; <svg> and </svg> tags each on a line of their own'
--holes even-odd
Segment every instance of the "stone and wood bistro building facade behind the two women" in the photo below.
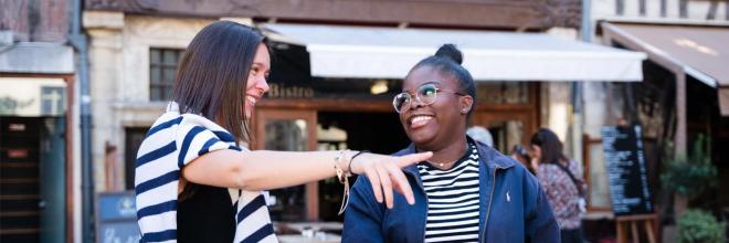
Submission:
<svg viewBox="0 0 729 243">
<path fill-rule="evenodd" d="M 361 11 L 367 9 L 368 11 Z M 334 24 L 392 29 L 545 32 L 574 40 L 579 1 L 86 1 L 84 29 L 94 114 L 97 191 L 134 188 L 136 146 L 169 101 L 176 64 L 194 34 L 215 20 L 245 24 Z M 274 44 L 279 55 L 308 65 L 305 47 Z M 276 51 L 274 53 L 276 55 Z M 300 59 L 300 56 L 304 56 Z M 466 60 L 468 56 L 466 56 Z M 283 57 L 279 60 L 284 60 Z M 370 149 L 393 152 L 408 139 L 391 97 L 400 78 L 320 77 L 277 62 L 267 97 L 257 105 L 254 149 Z M 277 70 L 282 70 L 277 72 Z M 285 71 L 285 72 L 284 72 Z M 404 76 L 403 72 L 401 76 Z M 376 89 L 383 91 L 376 91 Z M 490 129 L 508 152 L 538 127 L 567 136 L 570 85 L 566 82 L 478 82 L 483 97 L 474 125 Z M 367 127 L 377 127 L 378 133 Z M 383 145 L 378 134 L 389 134 Z M 340 186 L 334 180 L 273 192 L 275 220 L 338 220 Z M 336 192 L 335 192 L 336 191 Z"/>
</svg>

